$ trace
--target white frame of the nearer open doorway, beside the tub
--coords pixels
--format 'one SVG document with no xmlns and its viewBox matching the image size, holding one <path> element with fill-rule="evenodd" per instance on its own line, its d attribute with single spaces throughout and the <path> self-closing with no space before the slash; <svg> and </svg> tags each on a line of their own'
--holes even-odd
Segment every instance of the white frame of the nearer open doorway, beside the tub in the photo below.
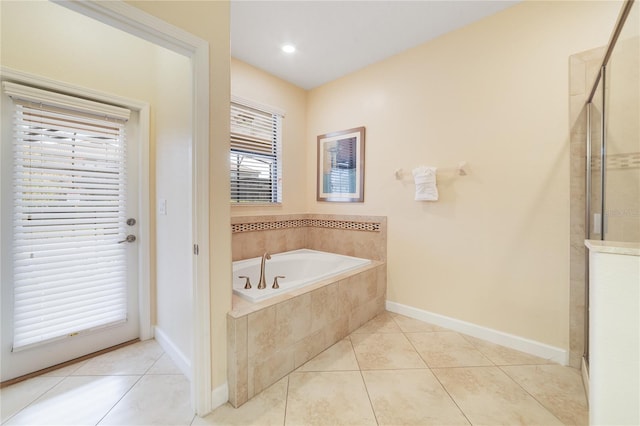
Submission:
<svg viewBox="0 0 640 426">
<path fill-rule="evenodd" d="M 193 78 L 191 211 L 194 239 L 191 401 L 196 414 L 204 416 L 212 408 L 209 290 L 209 43 L 120 0 L 51 1 L 191 60 Z"/>
</svg>

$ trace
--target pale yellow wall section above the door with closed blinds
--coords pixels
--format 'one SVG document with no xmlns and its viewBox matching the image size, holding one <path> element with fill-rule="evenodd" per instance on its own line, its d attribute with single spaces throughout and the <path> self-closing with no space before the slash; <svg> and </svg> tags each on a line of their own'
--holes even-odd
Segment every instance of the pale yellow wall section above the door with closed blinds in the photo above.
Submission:
<svg viewBox="0 0 640 426">
<path fill-rule="evenodd" d="M 130 99 L 153 98 L 147 83 L 154 48 L 142 39 L 47 1 L 2 2 L 1 28 L 3 66 Z"/>
</svg>

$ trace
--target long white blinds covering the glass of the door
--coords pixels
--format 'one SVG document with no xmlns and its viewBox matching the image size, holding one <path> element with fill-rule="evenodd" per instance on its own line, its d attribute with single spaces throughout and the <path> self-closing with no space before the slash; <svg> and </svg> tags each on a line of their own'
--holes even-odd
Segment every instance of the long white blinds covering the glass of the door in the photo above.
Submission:
<svg viewBox="0 0 640 426">
<path fill-rule="evenodd" d="M 13 350 L 126 320 L 129 111 L 11 83 Z"/>
</svg>

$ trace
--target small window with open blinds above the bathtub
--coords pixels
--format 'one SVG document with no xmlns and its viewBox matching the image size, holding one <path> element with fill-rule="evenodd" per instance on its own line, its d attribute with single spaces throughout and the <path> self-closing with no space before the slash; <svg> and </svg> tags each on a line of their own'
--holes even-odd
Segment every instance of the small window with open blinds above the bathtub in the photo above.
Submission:
<svg viewBox="0 0 640 426">
<path fill-rule="evenodd" d="M 282 117 L 250 101 L 231 102 L 232 204 L 282 202 Z"/>
</svg>

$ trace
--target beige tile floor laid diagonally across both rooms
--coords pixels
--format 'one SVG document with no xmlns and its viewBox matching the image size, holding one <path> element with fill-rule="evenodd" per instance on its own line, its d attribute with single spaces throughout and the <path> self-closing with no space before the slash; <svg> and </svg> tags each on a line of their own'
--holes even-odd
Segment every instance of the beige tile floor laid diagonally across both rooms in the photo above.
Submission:
<svg viewBox="0 0 640 426">
<path fill-rule="evenodd" d="M 193 415 L 155 341 L 0 391 L 13 425 L 586 425 L 578 370 L 385 312 L 238 409 Z"/>
</svg>

